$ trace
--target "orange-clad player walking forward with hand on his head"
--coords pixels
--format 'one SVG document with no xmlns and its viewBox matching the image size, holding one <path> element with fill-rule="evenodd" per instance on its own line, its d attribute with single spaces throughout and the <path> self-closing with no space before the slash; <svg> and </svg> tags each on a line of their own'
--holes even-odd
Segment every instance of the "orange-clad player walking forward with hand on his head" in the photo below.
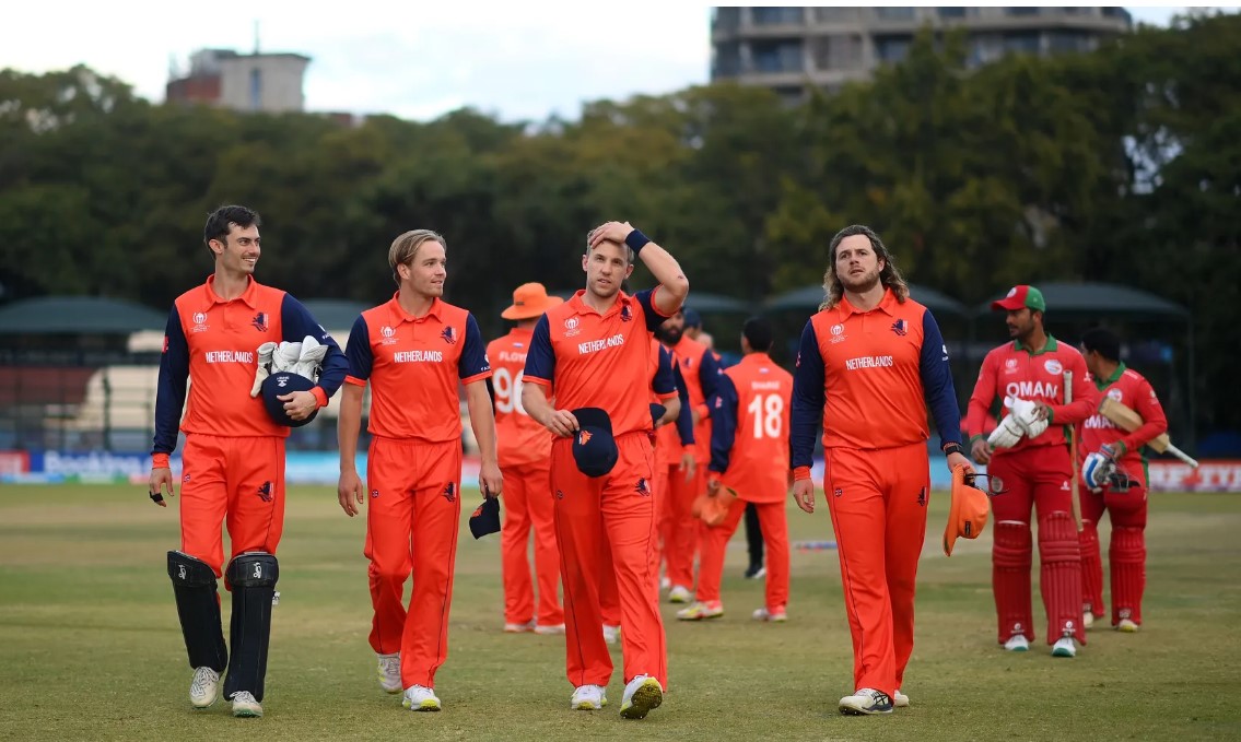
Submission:
<svg viewBox="0 0 1241 742">
<path fill-rule="evenodd" d="M 633 273 L 635 257 L 659 285 L 629 295 L 620 290 L 620 282 Z M 566 665 L 575 687 L 570 705 L 602 708 L 612 675 L 612 658 L 599 630 L 598 545 L 606 534 L 620 602 L 625 681 L 620 716 L 644 718 L 663 702 L 668 687 L 668 650 L 652 557 L 656 536 L 650 334 L 680 309 L 689 282 L 668 251 L 627 222 L 607 222 L 591 231 L 582 270 L 586 289 L 550 309 L 535 326 L 521 397 L 526 412 L 557 437 L 551 449 L 551 486 L 565 587 Z M 555 407 L 547 401 L 551 396 Z M 603 416 L 611 431 L 601 424 L 580 431 L 577 414 L 586 409 L 591 417 Z M 607 449 L 616 458 L 596 476 L 575 455 Z"/>
</svg>

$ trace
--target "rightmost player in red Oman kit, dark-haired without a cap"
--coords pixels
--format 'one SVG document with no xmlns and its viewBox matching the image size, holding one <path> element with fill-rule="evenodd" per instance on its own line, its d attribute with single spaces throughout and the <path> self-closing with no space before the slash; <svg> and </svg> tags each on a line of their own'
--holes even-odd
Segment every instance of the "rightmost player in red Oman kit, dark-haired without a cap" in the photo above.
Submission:
<svg viewBox="0 0 1241 742">
<path fill-rule="evenodd" d="M 1112 573 L 1112 627 L 1126 633 L 1142 625 L 1142 592 L 1147 583 L 1147 491 L 1150 478 L 1143 452 L 1152 438 L 1168 431 L 1168 418 L 1154 388 L 1140 373 L 1121 361 L 1121 339 L 1095 328 L 1082 335 L 1082 355 L 1098 400 L 1104 396 L 1142 416 L 1142 427 L 1126 433 L 1095 412 L 1078 426 L 1082 467 L 1082 589 L 1086 628 L 1103 615 L 1103 565 L 1100 558 L 1098 521 L 1106 510 L 1112 519 L 1107 561 Z"/>
</svg>

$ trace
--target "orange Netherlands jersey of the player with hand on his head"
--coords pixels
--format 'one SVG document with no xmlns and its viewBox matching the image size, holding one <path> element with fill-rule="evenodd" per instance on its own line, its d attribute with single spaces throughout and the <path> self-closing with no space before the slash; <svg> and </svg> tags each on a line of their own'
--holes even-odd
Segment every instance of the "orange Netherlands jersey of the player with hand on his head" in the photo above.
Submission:
<svg viewBox="0 0 1241 742">
<path fill-rule="evenodd" d="M 582 302 L 585 289 L 547 310 L 535 326 L 526 356 L 525 381 L 549 387 L 556 407 L 598 407 L 612 418 L 614 437 L 649 432 L 650 334 L 664 318 L 652 298 L 620 292 L 606 313 Z"/>
</svg>

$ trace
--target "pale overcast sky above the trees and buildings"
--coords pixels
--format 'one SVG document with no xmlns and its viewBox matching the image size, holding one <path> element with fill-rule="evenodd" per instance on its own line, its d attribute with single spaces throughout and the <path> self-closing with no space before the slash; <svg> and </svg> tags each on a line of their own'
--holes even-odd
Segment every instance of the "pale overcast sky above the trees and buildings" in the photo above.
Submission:
<svg viewBox="0 0 1241 742">
<path fill-rule="evenodd" d="M 114 0 L 68 10 L 19 0 L 4 11 L 0 68 L 83 63 L 163 101 L 170 62 L 184 67 L 206 47 L 252 51 L 257 21 L 262 51 L 313 57 L 309 110 L 429 119 L 473 105 L 504 120 L 576 118 L 585 101 L 668 93 L 709 76 L 709 5 L 347 0 L 333 2 L 335 12 L 310 5 Z M 1129 10 L 1167 25 L 1183 9 Z"/>
</svg>

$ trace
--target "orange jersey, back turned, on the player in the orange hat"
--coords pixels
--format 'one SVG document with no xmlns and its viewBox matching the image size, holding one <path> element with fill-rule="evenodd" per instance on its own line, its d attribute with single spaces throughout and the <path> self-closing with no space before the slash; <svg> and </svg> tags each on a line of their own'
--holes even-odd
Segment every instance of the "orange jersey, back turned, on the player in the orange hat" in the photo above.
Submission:
<svg viewBox="0 0 1241 742">
<path fill-rule="evenodd" d="M 534 330 L 514 328 L 486 346 L 491 361 L 491 390 L 495 393 L 495 434 L 501 467 L 547 463 L 552 433 L 540 426 L 521 406 L 526 354 Z"/>
</svg>

